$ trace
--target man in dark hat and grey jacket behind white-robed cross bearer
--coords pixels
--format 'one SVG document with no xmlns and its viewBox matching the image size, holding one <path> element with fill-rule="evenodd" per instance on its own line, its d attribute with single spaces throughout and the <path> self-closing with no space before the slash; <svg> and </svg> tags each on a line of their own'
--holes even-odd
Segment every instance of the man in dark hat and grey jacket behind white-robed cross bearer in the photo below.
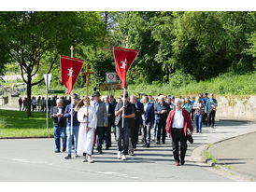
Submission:
<svg viewBox="0 0 256 192">
<path fill-rule="evenodd" d="M 92 97 L 93 97 L 92 106 L 96 110 L 96 114 L 97 114 L 97 128 L 96 128 L 97 150 L 99 154 L 102 154 L 104 130 L 108 126 L 107 108 L 106 108 L 106 104 L 100 100 L 99 91 L 95 91 L 92 94 Z"/>
</svg>

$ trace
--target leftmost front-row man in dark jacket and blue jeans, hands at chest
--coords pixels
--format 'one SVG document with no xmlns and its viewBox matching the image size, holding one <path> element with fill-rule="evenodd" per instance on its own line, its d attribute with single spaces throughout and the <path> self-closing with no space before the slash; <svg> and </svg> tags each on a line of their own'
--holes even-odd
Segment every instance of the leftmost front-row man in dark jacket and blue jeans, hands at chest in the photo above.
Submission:
<svg viewBox="0 0 256 192">
<path fill-rule="evenodd" d="M 54 131 L 54 141 L 56 145 L 55 153 L 60 153 L 61 151 L 61 140 L 63 138 L 63 152 L 66 149 L 66 119 L 64 118 L 64 106 L 63 100 L 57 100 L 57 106 L 52 109 L 50 117 L 53 118 L 53 131 Z"/>
</svg>

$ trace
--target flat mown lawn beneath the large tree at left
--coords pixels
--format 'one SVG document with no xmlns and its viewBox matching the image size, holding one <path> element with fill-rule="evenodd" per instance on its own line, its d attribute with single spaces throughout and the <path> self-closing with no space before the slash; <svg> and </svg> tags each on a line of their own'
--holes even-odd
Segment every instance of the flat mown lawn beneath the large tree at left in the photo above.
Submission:
<svg viewBox="0 0 256 192">
<path fill-rule="evenodd" d="M 26 117 L 26 112 L 0 110 L 0 138 L 3 137 L 51 137 L 53 135 L 52 119 L 49 118 L 49 131 L 46 126 L 45 113 L 33 113 Z"/>
</svg>

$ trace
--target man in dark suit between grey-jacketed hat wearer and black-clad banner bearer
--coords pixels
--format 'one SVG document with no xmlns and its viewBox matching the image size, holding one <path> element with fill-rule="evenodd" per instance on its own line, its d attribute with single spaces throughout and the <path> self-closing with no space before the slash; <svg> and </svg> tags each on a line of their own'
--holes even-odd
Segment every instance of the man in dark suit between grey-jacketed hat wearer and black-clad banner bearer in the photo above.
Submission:
<svg viewBox="0 0 256 192">
<path fill-rule="evenodd" d="M 106 150 L 108 150 L 109 147 L 111 147 L 111 126 L 113 125 L 115 120 L 115 108 L 113 104 L 109 103 L 108 95 L 104 97 L 104 103 L 106 104 L 108 117 L 108 126 L 105 128 Z"/>
</svg>

